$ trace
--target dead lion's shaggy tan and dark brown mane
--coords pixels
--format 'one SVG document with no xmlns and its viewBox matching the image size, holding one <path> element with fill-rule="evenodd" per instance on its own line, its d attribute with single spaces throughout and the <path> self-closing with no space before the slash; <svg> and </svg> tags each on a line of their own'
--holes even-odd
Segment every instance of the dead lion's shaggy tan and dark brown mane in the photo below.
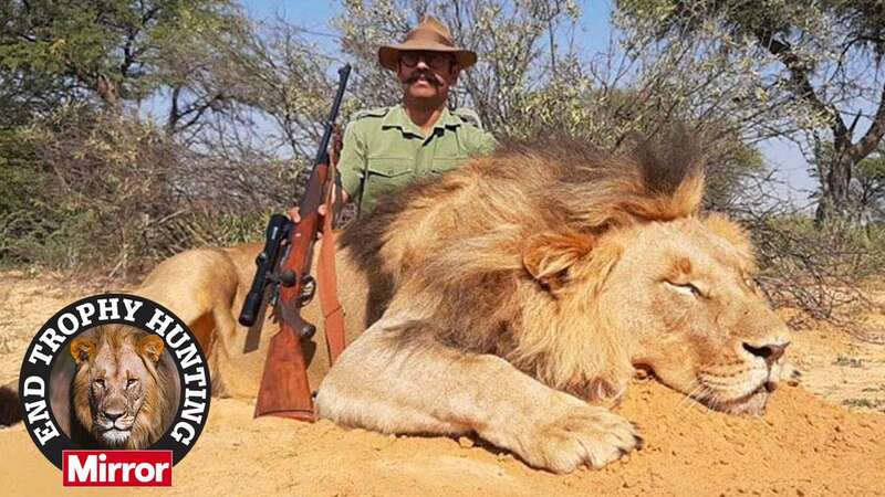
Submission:
<svg viewBox="0 0 885 497">
<path fill-rule="evenodd" d="M 677 145 L 657 145 L 667 141 Z M 430 316 L 406 335 L 431 329 L 444 343 L 501 356 L 553 388 L 611 398 L 633 368 L 627 337 L 612 335 L 594 308 L 618 255 L 603 235 L 694 215 L 702 192 L 702 154 L 685 131 L 623 156 L 576 142 L 514 144 L 394 195 L 346 230 L 342 246 L 366 272 L 375 299 L 368 322 L 396 305 L 396 294 L 403 308 Z M 573 253 L 543 250 L 560 242 Z M 591 250 L 582 274 L 565 274 Z M 559 298 L 563 277 L 584 278 L 587 295 Z"/>
</svg>

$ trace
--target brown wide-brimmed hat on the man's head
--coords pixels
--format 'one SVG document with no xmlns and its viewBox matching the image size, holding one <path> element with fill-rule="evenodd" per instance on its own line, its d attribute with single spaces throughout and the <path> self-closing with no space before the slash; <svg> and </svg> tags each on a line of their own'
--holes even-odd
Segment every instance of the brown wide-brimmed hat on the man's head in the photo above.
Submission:
<svg viewBox="0 0 885 497">
<path fill-rule="evenodd" d="M 455 46 L 449 29 L 433 15 L 425 15 L 421 23 L 406 34 L 403 43 L 378 49 L 378 62 L 383 67 L 396 71 L 399 66 L 399 52 L 415 50 L 450 53 L 455 55 L 460 68 L 477 63 L 476 52 Z"/>
</svg>

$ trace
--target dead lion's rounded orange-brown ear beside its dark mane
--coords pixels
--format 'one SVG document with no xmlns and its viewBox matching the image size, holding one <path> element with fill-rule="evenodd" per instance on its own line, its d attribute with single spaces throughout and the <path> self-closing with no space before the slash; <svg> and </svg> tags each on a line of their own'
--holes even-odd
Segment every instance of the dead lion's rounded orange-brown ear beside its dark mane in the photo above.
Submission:
<svg viewBox="0 0 885 497">
<path fill-rule="evenodd" d="M 593 239 L 577 233 L 540 233 L 525 244 L 522 265 L 541 286 L 555 292 L 568 281 L 569 268 L 593 248 Z"/>
</svg>

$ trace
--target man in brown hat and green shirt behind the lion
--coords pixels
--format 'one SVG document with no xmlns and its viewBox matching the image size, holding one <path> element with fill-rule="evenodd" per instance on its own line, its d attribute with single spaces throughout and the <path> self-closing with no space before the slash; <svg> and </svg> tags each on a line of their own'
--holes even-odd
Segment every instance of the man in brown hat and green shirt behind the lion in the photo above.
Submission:
<svg viewBox="0 0 885 497">
<path fill-rule="evenodd" d="M 445 24 L 431 15 L 403 43 L 378 50 L 381 65 L 396 73 L 403 102 L 357 113 L 344 133 L 339 173 L 346 203 L 360 214 L 416 178 L 454 169 L 497 142 L 472 110 L 449 110 L 449 89 L 476 53 L 458 49 Z M 298 221 L 298 214 L 292 212 Z"/>
</svg>

